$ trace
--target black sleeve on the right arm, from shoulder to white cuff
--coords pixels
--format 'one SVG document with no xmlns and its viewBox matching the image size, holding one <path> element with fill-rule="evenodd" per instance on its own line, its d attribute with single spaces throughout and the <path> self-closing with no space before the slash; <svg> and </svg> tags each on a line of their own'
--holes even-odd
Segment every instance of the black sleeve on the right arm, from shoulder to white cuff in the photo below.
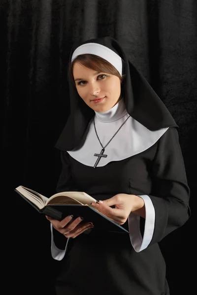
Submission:
<svg viewBox="0 0 197 295">
<path fill-rule="evenodd" d="M 149 197 L 155 208 L 155 228 L 150 245 L 161 241 L 190 217 L 190 189 L 175 127 L 169 127 L 158 141 L 152 179 Z"/>
</svg>

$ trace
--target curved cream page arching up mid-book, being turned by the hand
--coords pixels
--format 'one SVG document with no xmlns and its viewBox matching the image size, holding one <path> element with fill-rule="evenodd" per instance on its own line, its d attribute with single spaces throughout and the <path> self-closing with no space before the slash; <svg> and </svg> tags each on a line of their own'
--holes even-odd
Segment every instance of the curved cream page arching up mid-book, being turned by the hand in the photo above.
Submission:
<svg viewBox="0 0 197 295">
<path fill-rule="evenodd" d="M 91 196 L 89 196 L 88 194 L 86 194 L 84 192 L 61 192 L 61 193 L 57 193 L 57 194 L 53 195 L 52 197 L 50 197 L 48 199 L 48 201 L 46 202 L 46 205 L 49 204 L 49 202 L 50 202 L 50 204 L 52 204 L 51 203 L 52 200 L 53 200 L 52 201 L 53 204 L 57 204 L 56 199 L 58 201 L 58 204 L 73 204 L 73 203 L 67 203 L 68 198 L 78 201 L 79 204 L 89 205 L 89 206 L 91 206 L 90 204 L 92 202 L 97 201 L 96 199 L 92 198 Z M 71 202 L 73 202 L 73 200 Z M 75 203 L 75 204 L 77 204 L 77 203 Z"/>
</svg>

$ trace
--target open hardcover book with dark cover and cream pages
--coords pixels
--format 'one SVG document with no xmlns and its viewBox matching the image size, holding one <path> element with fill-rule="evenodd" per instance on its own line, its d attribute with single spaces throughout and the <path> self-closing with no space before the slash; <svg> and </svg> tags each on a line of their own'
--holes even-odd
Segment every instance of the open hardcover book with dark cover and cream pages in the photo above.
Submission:
<svg viewBox="0 0 197 295">
<path fill-rule="evenodd" d="M 73 215 L 73 219 L 83 217 L 84 222 L 93 222 L 97 230 L 129 233 L 124 227 L 115 223 L 93 207 L 91 203 L 97 200 L 84 192 L 61 192 L 47 198 L 22 185 L 16 187 L 15 191 L 38 212 L 57 220 Z"/>
</svg>

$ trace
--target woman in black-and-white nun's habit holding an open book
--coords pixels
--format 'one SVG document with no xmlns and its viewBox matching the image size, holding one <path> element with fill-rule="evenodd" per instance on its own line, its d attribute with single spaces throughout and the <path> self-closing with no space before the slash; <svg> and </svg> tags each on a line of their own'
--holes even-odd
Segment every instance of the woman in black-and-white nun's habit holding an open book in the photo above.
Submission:
<svg viewBox="0 0 197 295">
<path fill-rule="evenodd" d="M 56 293 L 168 295 L 158 242 L 190 216 L 177 125 L 113 38 L 75 44 L 70 60 L 57 191 L 88 193 L 130 234 L 47 217 L 52 257 L 63 265 Z"/>
</svg>

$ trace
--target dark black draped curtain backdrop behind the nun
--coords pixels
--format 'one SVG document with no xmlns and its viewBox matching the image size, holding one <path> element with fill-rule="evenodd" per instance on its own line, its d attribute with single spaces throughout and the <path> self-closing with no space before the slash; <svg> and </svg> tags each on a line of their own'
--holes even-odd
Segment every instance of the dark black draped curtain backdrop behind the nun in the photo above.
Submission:
<svg viewBox="0 0 197 295">
<path fill-rule="evenodd" d="M 69 114 L 69 51 L 76 40 L 106 35 L 122 44 L 179 125 L 192 216 L 161 249 L 171 295 L 196 292 L 197 1 L 0 0 L 5 294 L 54 294 L 61 262 L 51 258 L 49 222 L 13 190 L 55 193 L 54 145 Z"/>
</svg>

